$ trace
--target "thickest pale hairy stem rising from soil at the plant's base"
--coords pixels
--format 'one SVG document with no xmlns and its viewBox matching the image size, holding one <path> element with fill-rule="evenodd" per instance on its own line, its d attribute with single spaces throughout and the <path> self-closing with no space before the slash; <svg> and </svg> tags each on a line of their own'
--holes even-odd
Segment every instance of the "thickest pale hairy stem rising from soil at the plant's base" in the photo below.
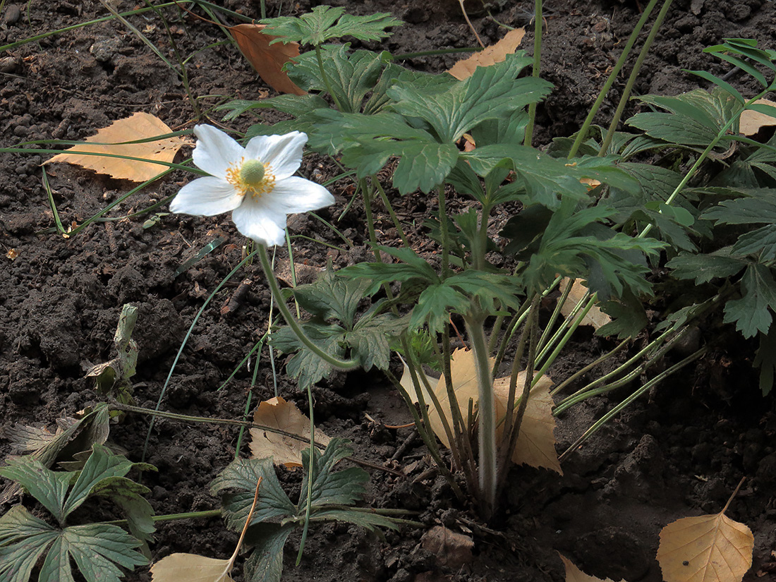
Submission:
<svg viewBox="0 0 776 582">
<path fill-rule="evenodd" d="M 477 438 L 480 449 L 480 512 L 484 519 L 490 519 L 496 508 L 496 400 L 493 393 L 493 378 L 490 376 L 487 341 L 483 324 L 485 317 L 480 312 L 465 318 L 469 341 L 472 343 L 479 390 L 479 423 Z"/>
</svg>

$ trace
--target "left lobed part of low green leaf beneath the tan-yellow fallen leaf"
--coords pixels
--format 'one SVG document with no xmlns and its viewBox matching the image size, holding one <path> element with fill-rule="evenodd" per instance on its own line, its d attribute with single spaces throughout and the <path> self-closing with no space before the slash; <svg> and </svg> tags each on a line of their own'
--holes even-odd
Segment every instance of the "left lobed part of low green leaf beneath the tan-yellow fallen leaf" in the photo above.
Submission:
<svg viewBox="0 0 776 582">
<path fill-rule="evenodd" d="M 296 515 L 296 506 L 280 486 L 271 458 L 237 459 L 210 483 L 211 493 L 223 495 L 223 516 L 229 528 L 236 532 L 243 528 L 251 512 L 259 478 L 262 484 L 251 525 Z M 225 493 L 226 490 L 234 491 Z"/>
</svg>

